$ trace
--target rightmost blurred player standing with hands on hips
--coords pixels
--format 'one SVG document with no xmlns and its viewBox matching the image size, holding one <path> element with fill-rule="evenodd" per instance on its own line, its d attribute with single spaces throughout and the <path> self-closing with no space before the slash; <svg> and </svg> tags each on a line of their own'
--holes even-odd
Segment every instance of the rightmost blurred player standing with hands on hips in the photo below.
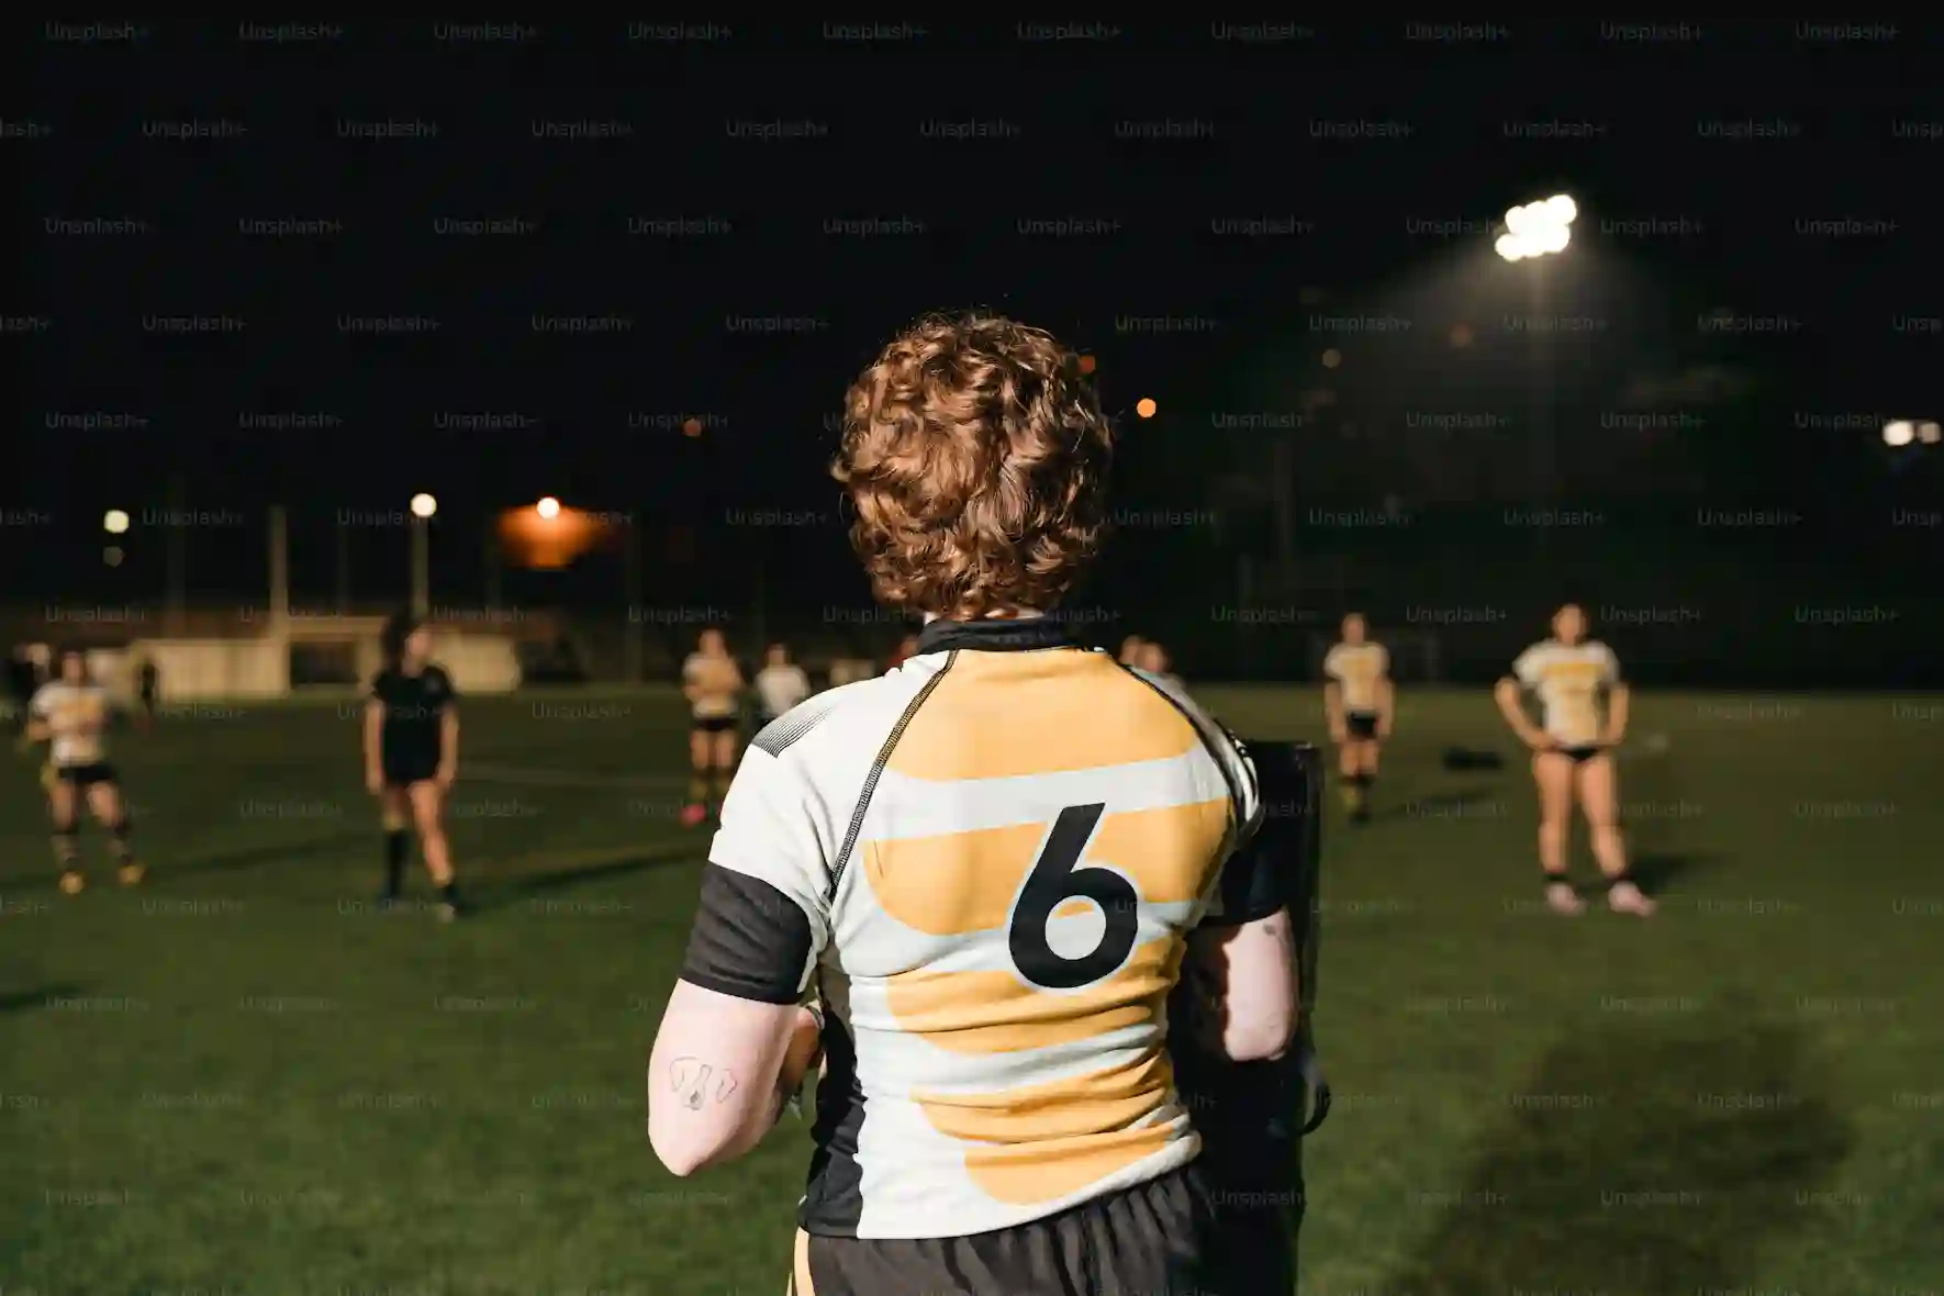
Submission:
<svg viewBox="0 0 1944 1296">
<path fill-rule="evenodd" d="M 1524 694 L 1540 701 L 1540 723 L 1524 709 Z M 1614 748 L 1627 736 L 1627 684 L 1614 649 L 1586 637 L 1586 614 L 1565 604 L 1553 614 L 1553 637 L 1534 643 L 1512 674 L 1499 680 L 1499 711 L 1518 740 L 1532 748 L 1532 779 L 1540 787 L 1540 869 L 1545 902 L 1559 913 L 1586 905 L 1567 880 L 1573 802 L 1592 832 L 1592 853 L 1606 876 L 1614 913 L 1647 917 L 1654 902 L 1627 872 L 1627 843 L 1619 836 L 1619 773 Z"/>
</svg>

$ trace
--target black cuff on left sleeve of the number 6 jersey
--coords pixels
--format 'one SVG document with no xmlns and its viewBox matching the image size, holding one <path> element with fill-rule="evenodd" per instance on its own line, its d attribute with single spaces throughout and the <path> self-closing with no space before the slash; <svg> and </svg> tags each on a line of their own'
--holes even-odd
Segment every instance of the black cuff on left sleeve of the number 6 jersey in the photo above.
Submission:
<svg viewBox="0 0 1944 1296">
<path fill-rule="evenodd" d="M 710 865 L 682 979 L 735 999 L 797 1003 L 811 964 L 809 915 L 762 878 Z"/>
</svg>

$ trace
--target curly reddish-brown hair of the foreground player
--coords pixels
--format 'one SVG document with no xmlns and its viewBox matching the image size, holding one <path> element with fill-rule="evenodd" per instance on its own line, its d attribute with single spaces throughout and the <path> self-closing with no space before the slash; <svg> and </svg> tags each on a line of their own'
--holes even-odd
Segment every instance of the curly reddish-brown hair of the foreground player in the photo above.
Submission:
<svg viewBox="0 0 1944 1296">
<path fill-rule="evenodd" d="M 997 315 L 927 317 L 844 398 L 830 474 L 877 598 L 1050 612 L 1106 538 L 1114 429 L 1079 356 Z"/>
</svg>

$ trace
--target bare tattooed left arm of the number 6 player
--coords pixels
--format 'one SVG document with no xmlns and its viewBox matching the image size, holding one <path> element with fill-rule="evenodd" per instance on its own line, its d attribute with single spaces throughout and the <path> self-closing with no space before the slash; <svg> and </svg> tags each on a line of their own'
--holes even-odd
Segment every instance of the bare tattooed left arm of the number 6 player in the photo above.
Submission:
<svg viewBox="0 0 1944 1296">
<path fill-rule="evenodd" d="M 647 1137 L 669 1174 L 690 1176 L 762 1143 L 816 1061 L 813 1032 L 801 1005 L 677 981 L 647 1063 Z"/>
</svg>

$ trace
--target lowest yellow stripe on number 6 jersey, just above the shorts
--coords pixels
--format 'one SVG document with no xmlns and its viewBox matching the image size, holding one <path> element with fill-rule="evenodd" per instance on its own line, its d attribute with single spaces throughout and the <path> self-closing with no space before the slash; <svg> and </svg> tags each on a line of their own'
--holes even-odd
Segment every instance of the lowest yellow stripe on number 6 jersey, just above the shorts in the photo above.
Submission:
<svg viewBox="0 0 1944 1296">
<path fill-rule="evenodd" d="M 1058 1201 L 1153 1156 L 1170 1125 L 1141 1125 L 1174 1088 L 1161 1049 L 1094 1074 L 999 1094 L 912 1094 L 941 1135 L 972 1143 L 966 1174 L 1007 1203 Z"/>
</svg>

